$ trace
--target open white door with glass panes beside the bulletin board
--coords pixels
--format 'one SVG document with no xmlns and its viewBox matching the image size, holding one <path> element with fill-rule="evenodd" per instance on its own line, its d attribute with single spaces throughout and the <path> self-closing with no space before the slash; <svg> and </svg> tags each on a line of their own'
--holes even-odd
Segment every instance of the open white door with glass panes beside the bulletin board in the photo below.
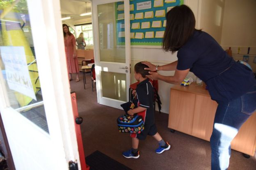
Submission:
<svg viewBox="0 0 256 170">
<path fill-rule="evenodd" d="M 121 108 L 130 85 L 129 0 L 93 0 L 98 102 Z"/>
</svg>

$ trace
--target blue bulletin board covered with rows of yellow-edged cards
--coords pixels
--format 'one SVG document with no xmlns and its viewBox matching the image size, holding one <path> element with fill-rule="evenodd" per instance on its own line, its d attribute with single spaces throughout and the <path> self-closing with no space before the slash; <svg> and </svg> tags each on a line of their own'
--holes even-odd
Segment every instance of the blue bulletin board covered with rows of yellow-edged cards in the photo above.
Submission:
<svg viewBox="0 0 256 170">
<path fill-rule="evenodd" d="M 130 0 L 131 45 L 161 46 L 166 13 L 183 3 L 183 0 Z M 117 44 L 124 45 L 123 2 L 116 3 L 116 11 Z"/>
</svg>

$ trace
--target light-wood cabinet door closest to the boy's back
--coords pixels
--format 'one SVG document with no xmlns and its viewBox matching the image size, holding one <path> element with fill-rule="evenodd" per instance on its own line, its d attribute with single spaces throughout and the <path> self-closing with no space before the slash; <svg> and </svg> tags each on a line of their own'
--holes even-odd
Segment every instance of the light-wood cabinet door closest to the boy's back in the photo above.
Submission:
<svg viewBox="0 0 256 170">
<path fill-rule="evenodd" d="M 168 128 L 191 134 L 195 94 L 171 89 Z"/>
</svg>

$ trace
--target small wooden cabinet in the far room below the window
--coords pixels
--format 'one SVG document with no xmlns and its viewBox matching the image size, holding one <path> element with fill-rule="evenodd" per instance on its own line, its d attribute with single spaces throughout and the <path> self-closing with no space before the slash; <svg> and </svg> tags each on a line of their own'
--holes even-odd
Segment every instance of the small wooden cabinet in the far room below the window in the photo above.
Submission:
<svg viewBox="0 0 256 170">
<path fill-rule="evenodd" d="M 82 72 L 82 60 L 86 60 L 86 65 L 91 63 L 91 59 L 94 59 L 93 49 L 76 49 L 76 55 L 78 57 L 78 67 L 79 71 Z"/>
</svg>

